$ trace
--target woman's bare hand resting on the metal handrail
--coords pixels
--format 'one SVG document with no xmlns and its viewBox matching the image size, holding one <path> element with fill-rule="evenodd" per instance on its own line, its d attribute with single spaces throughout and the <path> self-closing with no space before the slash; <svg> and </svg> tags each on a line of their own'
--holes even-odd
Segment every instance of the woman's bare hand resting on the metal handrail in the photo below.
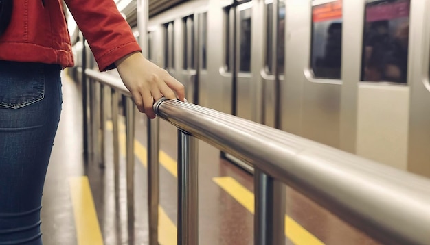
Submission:
<svg viewBox="0 0 430 245">
<path fill-rule="evenodd" d="M 141 53 L 126 55 L 117 60 L 115 65 L 139 112 L 144 112 L 149 118 L 155 118 L 152 105 L 161 97 L 185 100 L 183 84 L 170 76 L 166 70 L 146 60 Z"/>
</svg>

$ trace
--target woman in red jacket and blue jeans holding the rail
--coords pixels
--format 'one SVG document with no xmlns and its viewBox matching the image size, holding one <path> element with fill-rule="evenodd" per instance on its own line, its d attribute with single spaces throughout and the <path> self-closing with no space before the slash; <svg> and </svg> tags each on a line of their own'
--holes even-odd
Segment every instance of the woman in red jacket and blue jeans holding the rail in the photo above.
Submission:
<svg viewBox="0 0 430 245">
<path fill-rule="evenodd" d="M 161 96 L 184 100 L 183 85 L 141 55 L 113 0 L 65 2 L 100 70 L 117 68 L 140 112 L 155 118 L 152 103 Z M 73 66 L 73 55 L 60 0 L 1 3 L 13 8 L 0 36 L 0 245 L 42 244 L 41 196 L 60 118 L 60 70 Z"/>
</svg>

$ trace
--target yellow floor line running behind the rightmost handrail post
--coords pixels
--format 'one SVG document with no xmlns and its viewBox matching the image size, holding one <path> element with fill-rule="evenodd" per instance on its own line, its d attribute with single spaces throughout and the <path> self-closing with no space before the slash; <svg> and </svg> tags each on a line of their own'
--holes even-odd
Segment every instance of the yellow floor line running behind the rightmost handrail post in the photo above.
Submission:
<svg viewBox="0 0 430 245">
<path fill-rule="evenodd" d="M 223 188 L 243 207 L 254 214 L 254 195 L 243 185 L 231 177 L 216 177 L 213 179 L 216 184 Z M 285 216 L 285 235 L 291 242 L 297 245 L 322 245 L 324 244 L 317 237 L 306 231 L 300 224 L 289 216 Z"/>
</svg>

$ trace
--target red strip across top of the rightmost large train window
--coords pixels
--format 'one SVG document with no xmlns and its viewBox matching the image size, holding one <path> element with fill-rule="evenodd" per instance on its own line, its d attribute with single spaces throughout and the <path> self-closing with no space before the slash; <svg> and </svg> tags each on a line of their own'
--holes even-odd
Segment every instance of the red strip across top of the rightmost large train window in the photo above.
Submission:
<svg viewBox="0 0 430 245">
<path fill-rule="evenodd" d="M 366 8 L 366 21 L 389 21 L 396 18 L 409 17 L 409 1 L 385 3 Z"/>
</svg>

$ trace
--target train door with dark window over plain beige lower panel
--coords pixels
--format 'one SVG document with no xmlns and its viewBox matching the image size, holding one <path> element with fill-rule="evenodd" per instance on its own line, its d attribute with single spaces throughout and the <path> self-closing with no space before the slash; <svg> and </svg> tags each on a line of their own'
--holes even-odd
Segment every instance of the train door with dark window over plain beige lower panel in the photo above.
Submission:
<svg viewBox="0 0 430 245">
<path fill-rule="evenodd" d="M 361 6 L 357 155 L 406 170 L 411 1 L 365 0 Z"/>
</svg>

